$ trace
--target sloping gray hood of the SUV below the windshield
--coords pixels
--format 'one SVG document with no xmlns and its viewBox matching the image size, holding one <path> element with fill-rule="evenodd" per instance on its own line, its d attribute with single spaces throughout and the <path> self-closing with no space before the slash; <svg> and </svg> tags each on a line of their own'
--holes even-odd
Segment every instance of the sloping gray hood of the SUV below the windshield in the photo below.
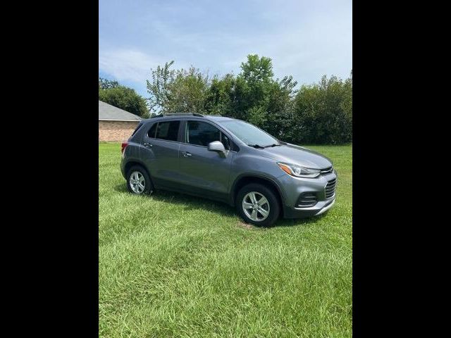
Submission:
<svg viewBox="0 0 451 338">
<path fill-rule="evenodd" d="M 278 162 L 301 165 L 305 168 L 325 169 L 332 165 L 332 161 L 316 151 L 296 146 L 295 144 L 283 144 L 271 148 L 257 149 L 259 154 Z"/>
</svg>

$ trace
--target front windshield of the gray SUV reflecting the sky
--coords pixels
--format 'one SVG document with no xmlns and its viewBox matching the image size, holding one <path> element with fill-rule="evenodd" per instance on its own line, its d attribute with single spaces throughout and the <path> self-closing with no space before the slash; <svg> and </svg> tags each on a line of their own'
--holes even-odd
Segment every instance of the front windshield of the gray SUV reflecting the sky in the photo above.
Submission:
<svg viewBox="0 0 451 338">
<path fill-rule="evenodd" d="M 277 139 L 250 123 L 229 120 L 221 121 L 221 125 L 230 130 L 232 134 L 242 140 L 242 142 L 245 142 L 248 146 L 258 146 L 263 148 L 266 146 L 279 145 Z"/>
</svg>

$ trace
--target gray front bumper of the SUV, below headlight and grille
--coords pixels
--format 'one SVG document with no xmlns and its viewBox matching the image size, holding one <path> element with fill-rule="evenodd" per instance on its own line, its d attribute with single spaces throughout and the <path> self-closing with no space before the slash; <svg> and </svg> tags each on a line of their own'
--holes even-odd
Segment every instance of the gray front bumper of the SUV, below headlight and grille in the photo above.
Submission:
<svg viewBox="0 0 451 338">
<path fill-rule="evenodd" d="M 335 194 L 327 198 L 326 184 L 329 181 L 337 179 L 335 170 L 328 175 L 320 176 L 318 178 L 301 178 L 292 177 L 290 175 L 283 175 L 278 177 L 278 183 L 283 189 L 283 216 L 284 218 L 306 218 L 325 213 L 333 204 L 335 204 Z M 297 200 L 302 193 L 313 192 L 316 194 L 318 201 L 314 206 L 299 207 Z"/>
</svg>

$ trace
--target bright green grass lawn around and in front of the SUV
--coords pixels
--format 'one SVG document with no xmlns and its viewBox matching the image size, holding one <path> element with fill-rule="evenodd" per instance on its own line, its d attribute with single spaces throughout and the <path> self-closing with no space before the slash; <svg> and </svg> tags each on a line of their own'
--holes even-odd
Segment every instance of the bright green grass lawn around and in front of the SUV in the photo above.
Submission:
<svg viewBox="0 0 451 338">
<path fill-rule="evenodd" d="M 309 146 L 338 171 L 335 206 L 275 227 L 226 205 L 127 192 L 99 144 L 100 337 L 351 337 L 352 146 Z"/>
</svg>

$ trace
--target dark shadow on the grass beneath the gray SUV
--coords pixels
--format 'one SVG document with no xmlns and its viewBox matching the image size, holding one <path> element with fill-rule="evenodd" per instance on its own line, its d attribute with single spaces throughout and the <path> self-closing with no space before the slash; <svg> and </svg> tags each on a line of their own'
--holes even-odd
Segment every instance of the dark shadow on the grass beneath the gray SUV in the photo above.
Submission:
<svg viewBox="0 0 451 338">
<path fill-rule="evenodd" d="M 127 184 L 117 184 L 114 187 L 116 192 L 120 192 L 122 194 L 130 194 L 127 189 Z M 205 199 L 203 197 L 192 196 L 188 194 L 182 194 L 178 192 L 168 192 L 166 190 L 156 190 L 152 192 L 151 195 L 147 195 L 149 198 L 152 198 L 156 201 L 163 201 L 174 204 L 184 204 L 186 210 L 201 210 L 208 208 L 209 211 L 213 211 L 214 213 L 219 213 L 221 215 L 226 216 L 236 216 L 237 212 L 233 206 L 229 206 L 226 203 L 220 201 L 214 201 L 211 199 Z M 279 220 L 272 227 L 292 227 L 299 225 L 313 225 L 314 223 L 319 222 L 324 215 L 323 213 L 318 216 L 312 216 L 309 218 L 279 218 Z M 255 226 L 257 228 L 261 228 L 258 225 Z"/>
</svg>

